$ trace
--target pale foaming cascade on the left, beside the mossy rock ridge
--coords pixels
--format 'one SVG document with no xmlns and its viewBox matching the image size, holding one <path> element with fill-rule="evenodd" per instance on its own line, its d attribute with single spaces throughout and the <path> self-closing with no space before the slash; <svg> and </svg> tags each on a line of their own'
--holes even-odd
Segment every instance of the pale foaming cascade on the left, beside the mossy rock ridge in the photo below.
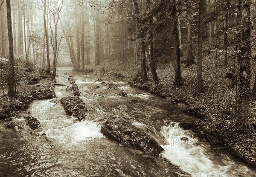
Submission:
<svg viewBox="0 0 256 177">
<path fill-rule="evenodd" d="M 42 126 L 42 132 L 47 137 L 55 139 L 58 143 L 77 144 L 88 142 L 90 139 L 101 138 L 101 126 L 94 120 L 75 122 L 73 116 L 67 116 L 64 108 L 55 105 L 56 99 L 35 101 L 31 104 L 31 112 L 36 116 Z M 55 105 L 55 106 L 54 106 Z"/>
</svg>

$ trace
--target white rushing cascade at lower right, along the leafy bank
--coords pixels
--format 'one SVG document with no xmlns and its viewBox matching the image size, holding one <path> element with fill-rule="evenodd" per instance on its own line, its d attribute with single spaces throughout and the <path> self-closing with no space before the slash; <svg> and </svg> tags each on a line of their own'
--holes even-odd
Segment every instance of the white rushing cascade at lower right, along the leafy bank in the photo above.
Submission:
<svg viewBox="0 0 256 177">
<path fill-rule="evenodd" d="M 234 162 L 227 155 L 216 156 L 210 152 L 209 145 L 193 137 L 191 131 L 184 131 L 178 123 L 163 126 L 161 132 L 168 143 L 162 145 L 163 157 L 192 177 L 255 177 L 255 171 L 247 166 Z"/>
</svg>

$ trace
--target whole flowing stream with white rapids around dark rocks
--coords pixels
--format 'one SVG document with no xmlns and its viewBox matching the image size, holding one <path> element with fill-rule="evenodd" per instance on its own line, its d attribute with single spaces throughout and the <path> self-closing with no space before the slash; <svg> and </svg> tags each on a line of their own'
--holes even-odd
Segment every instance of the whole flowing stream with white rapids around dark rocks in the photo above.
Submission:
<svg viewBox="0 0 256 177">
<path fill-rule="evenodd" d="M 31 135 L 23 115 L 14 118 L 15 130 L 0 125 L 0 176 L 2 177 L 255 177 L 256 170 L 229 154 L 216 153 L 179 122 L 197 118 L 183 113 L 168 99 L 139 90 L 120 79 L 83 75 L 59 70 L 57 82 L 67 84 L 64 72 L 74 75 L 88 115 L 76 122 L 60 103 L 66 86 L 56 86 L 57 98 L 32 102 L 29 112 L 41 123 Z M 97 78 L 113 82 L 120 90 L 108 89 Z M 97 87 L 99 86 L 99 87 Z M 128 93 L 119 96 L 119 91 Z M 101 124 L 112 116 L 125 119 L 149 133 L 164 149 L 163 158 L 147 158 L 105 138 Z M 170 165 L 178 166 L 188 174 Z"/>
</svg>

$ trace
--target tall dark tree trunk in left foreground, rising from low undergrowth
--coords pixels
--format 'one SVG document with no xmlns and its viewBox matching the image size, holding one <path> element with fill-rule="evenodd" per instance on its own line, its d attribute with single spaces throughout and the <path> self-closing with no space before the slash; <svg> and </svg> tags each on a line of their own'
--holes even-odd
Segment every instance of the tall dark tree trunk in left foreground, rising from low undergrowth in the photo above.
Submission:
<svg viewBox="0 0 256 177">
<path fill-rule="evenodd" d="M 11 0 L 6 0 L 7 9 L 7 27 L 9 38 L 9 89 L 8 96 L 14 96 L 14 56 L 13 56 L 13 38 L 12 38 L 12 12 L 11 12 Z"/>
</svg>

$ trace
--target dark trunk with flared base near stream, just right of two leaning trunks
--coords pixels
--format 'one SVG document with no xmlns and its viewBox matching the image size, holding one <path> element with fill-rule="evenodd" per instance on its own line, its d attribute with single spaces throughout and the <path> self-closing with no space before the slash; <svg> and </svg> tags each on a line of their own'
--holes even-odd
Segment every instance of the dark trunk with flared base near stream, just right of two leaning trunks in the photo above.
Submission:
<svg viewBox="0 0 256 177">
<path fill-rule="evenodd" d="M 180 46 L 179 46 L 179 34 L 178 34 L 177 12 L 176 12 L 175 0 L 173 1 L 172 20 L 173 20 L 172 37 L 173 37 L 173 43 L 174 43 L 173 48 L 174 48 L 174 56 L 175 56 L 174 86 L 178 87 L 181 85 L 182 78 L 181 78 L 181 72 L 180 72 Z"/>
</svg>

